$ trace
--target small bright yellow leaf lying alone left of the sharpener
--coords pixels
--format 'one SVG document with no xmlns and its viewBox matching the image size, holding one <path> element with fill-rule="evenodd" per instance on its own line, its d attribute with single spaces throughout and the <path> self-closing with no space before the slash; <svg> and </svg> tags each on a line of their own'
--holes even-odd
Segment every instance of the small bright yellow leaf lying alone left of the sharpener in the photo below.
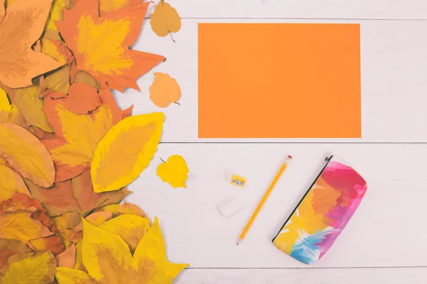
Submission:
<svg viewBox="0 0 427 284">
<path fill-rule="evenodd" d="M 172 187 L 184 187 L 189 174 L 189 168 L 184 158 L 180 155 L 170 156 L 166 163 L 162 163 L 157 168 L 157 175 L 163 182 L 169 183 Z"/>
</svg>

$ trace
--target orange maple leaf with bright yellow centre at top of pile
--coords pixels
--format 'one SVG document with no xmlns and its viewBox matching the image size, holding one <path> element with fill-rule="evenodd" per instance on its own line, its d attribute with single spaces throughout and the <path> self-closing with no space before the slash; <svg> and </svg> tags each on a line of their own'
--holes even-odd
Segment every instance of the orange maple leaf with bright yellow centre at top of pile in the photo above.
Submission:
<svg viewBox="0 0 427 284">
<path fill-rule="evenodd" d="M 138 89 L 135 80 L 164 60 L 161 55 L 130 50 L 141 30 L 149 2 L 106 13 L 100 18 L 98 1 L 78 1 L 74 9 L 64 10 L 56 23 L 78 70 L 93 75 L 100 84 L 123 92 Z"/>
</svg>

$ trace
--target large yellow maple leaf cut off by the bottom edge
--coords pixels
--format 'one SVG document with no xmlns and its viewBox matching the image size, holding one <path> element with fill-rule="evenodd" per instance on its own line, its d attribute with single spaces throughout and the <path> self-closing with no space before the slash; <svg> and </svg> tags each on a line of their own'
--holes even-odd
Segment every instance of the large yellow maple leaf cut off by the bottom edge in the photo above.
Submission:
<svg viewBox="0 0 427 284">
<path fill-rule="evenodd" d="M 88 273 L 57 268 L 59 284 L 168 284 L 188 266 L 167 261 L 157 218 L 133 256 L 120 236 L 83 220 L 82 255 Z"/>
</svg>

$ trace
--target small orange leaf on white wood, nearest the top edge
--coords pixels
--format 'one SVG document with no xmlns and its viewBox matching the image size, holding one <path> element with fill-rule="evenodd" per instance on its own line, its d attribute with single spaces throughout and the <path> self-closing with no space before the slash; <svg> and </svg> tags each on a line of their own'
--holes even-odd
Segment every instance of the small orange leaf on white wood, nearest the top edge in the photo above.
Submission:
<svg viewBox="0 0 427 284">
<path fill-rule="evenodd" d="M 154 33 L 166 36 L 168 33 L 176 33 L 181 28 L 181 18 L 176 10 L 169 4 L 160 0 L 154 12 L 151 14 L 151 26 Z"/>
</svg>

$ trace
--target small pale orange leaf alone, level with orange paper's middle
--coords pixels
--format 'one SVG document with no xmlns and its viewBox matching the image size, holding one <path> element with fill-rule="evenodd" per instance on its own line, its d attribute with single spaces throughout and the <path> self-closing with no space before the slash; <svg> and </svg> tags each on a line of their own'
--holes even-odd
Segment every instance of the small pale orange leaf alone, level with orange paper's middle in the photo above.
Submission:
<svg viewBox="0 0 427 284">
<path fill-rule="evenodd" d="M 157 107 L 167 107 L 181 98 L 181 88 L 176 80 L 164 73 L 154 73 L 153 84 L 149 87 L 149 99 Z"/>
</svg>

